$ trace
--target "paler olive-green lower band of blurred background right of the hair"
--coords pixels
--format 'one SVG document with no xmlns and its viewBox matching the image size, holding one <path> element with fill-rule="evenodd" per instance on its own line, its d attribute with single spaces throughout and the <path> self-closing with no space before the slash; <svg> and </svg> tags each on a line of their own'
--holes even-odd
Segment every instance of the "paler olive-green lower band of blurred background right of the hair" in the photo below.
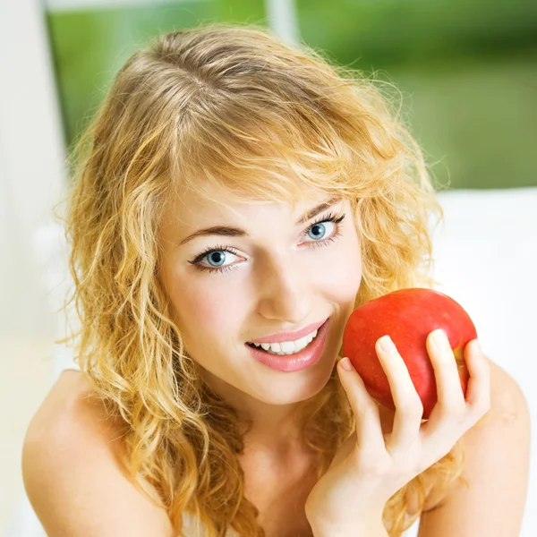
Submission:
<svg viewBox="0 0 537 537">
<path fill-rule="evenodd" d="M 435 183 L 537 186 L 537 54 L 390 70 Z"/>
</svg>

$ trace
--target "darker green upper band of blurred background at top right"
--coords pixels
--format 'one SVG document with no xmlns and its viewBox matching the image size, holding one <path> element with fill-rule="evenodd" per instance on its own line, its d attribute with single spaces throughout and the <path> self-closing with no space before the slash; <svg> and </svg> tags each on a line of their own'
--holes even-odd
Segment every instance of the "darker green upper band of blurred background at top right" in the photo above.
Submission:
<svg viewBox="0 0 537 537">
<path fill-rule="evenodd" d="M 537 3 L 528 0 L 295 2 L 304 41 L 362 69 L 537 45 Z"/>
</svg>

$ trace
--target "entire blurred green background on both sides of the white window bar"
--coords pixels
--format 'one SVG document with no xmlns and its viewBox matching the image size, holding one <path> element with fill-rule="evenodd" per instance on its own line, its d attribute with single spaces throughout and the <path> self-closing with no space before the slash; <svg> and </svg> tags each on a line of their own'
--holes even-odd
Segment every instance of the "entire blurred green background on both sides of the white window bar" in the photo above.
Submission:
<svg viewBox="0 0 537 537">
<path fill-rule="evenodd" d="M 295 6 L 303 42 L 401 90 L 405 117 L 437 184 L 537 185 L 537 3 L 297 0 Z M 68 143 L 137 48 L 158 33 L 209 21 L 268 25 L 262 0 L 47 13 Z"/>
</svg>

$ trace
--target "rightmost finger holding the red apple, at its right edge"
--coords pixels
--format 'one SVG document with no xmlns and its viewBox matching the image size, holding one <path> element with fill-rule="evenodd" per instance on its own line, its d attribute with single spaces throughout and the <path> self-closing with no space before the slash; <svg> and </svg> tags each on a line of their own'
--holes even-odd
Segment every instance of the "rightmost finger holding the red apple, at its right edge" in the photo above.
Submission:
<svg viewBox="0 0 537 537">
<path fill-rule="evenodd" d="M 465 346 L 465 362 L 470 374 L 466 403 L 479 418 L 490 409 L 490 362 L 477 339 Z"/>
</svg>

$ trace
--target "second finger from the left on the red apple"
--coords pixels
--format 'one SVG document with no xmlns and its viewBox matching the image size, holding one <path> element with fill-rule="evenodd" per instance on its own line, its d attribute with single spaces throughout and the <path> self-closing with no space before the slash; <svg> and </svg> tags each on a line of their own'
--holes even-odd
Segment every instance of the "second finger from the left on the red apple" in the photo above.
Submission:
<svg viewBox="0 0 537 537">
<path fill-rule="evenodd" d="M 391 337 L 380 337 L 375 345 L 379 361 L 388 377 L 389 388 L 396 406 L 392 433 L 387 449 L 392 452 L 413 443 L 420 430 L 423 405 L 414 388 L 408 368 L 397 352 Z"/>
</svg>

